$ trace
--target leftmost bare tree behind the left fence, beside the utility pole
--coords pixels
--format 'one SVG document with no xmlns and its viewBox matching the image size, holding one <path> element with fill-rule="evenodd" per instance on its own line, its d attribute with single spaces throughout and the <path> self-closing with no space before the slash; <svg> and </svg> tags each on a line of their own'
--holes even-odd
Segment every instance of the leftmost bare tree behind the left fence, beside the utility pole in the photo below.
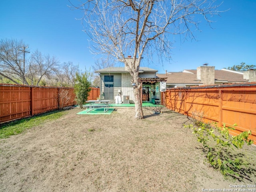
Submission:
<svg viewBox="0 0 256 192">
<path fill-rule="evenodd" d="M 16 84 L 28 85 L 26 70 L 24 68 L 24 52 L 27 45 L 22 40 L 0 40 L 0 75 L 8 78 Z"/>
</svg>

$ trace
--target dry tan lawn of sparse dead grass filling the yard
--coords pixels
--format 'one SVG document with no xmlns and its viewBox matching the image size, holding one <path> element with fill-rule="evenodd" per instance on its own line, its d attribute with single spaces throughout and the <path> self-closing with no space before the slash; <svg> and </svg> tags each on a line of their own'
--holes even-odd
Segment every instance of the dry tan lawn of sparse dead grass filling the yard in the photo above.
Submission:
<svg viewBox="0 0 256 192">
<path fill-rule="evenodd" d="M 210 168 L 196 137 L 183 128 L 191 123 L 186 116 L 144 108 L 145 119 L 136 120 L 134 108 L 80 111 L 0 140 L 0 191 L 197 192 L 256 183 L 255 175 L 224 180 Z M 244 150 L 255 166 L 256 147 Z"/>
</svg>

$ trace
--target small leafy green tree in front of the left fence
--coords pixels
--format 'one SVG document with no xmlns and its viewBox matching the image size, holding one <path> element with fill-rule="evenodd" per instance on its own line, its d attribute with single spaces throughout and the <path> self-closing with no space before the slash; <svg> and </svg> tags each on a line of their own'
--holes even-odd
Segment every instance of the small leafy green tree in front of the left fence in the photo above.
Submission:
<svg viewBox="0 0 256 192">
<path fill-rule="evenodd" d="M 89 92 L 91 91 L 91 82 L 90 82 L 90 74 L 83 73 L 79 74 L 76 73 L 76 82 L 75 82 L 75 94 L 76 94 L 76 102 L 80 106 L 80 108 L 83 108 L 83 104 L 87 100 L 89 96 Z"/>
</svg>

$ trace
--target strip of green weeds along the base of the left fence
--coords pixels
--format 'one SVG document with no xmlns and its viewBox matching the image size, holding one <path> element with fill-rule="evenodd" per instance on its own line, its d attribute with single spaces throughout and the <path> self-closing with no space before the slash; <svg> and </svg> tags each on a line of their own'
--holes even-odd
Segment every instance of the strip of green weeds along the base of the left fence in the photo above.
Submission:
<svg viewBox="0 0 256 192">
<path fill-rule="evenodd" d="M 40 125 L 46 120 L 55 120 L 60 118 L 65 112 L 51 111 L 30 118 L 22 118 L 9 123 L 0 124 L 0 139 L 8 138 L 11 135 L 17 135 L 30 129 L 34 126 Z"/>
</svg>

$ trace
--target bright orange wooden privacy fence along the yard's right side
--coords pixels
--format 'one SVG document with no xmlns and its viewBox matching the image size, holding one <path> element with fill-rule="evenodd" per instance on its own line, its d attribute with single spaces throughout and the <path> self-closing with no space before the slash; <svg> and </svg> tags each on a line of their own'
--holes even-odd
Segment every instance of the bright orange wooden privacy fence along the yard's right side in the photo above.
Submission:
<svg viewBox="0 0 256 192">
<path fill-rule="evenodd" d="M 217 122 L 221 127 L 237 124 L 230 134 L 252 131 L 256 144 L 256 83 L 220 86 L 196 86 L 166 90 L 167 108 L 205 122 Z"/>
</svg>

